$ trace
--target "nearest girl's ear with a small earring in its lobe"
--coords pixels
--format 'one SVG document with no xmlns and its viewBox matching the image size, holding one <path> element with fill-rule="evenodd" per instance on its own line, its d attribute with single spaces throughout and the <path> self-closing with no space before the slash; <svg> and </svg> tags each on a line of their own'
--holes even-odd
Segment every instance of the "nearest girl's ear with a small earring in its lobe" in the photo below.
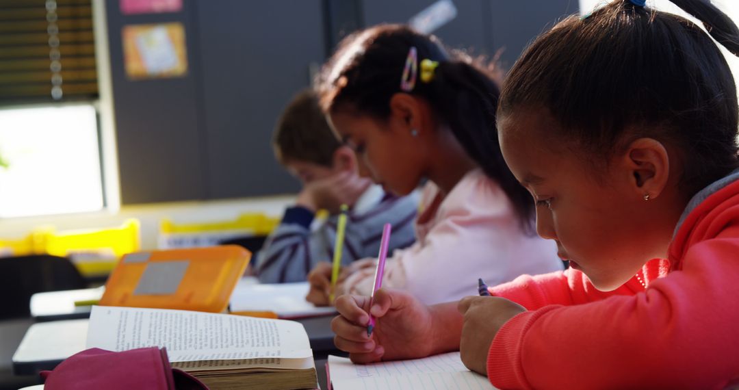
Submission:
<svg viewBox="0 0 739 390">
<path fill-rule="evenodd" d="M 635 196 L 644 200 L 657 198 L 670 178 L 670 156 L 667 148 L 653 138 L 638 138 L 624 155 Z"/>
</svg>

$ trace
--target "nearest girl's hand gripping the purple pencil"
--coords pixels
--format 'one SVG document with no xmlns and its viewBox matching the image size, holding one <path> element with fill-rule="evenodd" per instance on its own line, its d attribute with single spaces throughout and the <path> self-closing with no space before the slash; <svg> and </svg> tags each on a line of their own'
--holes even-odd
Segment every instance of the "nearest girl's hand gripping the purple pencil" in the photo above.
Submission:
<svg viewBox="0 0 739 390">
<path fill-rule="evenodd" d="M 331 321 L 334 343 L 349 352 L 355 363 L 424 357 L 433 352 L 432 309 L 406 292 L 375 292 L 372 336 L 367 336 L 368 296 L 341 295 L 336 309 L 339 315 Z"/>
</svg>

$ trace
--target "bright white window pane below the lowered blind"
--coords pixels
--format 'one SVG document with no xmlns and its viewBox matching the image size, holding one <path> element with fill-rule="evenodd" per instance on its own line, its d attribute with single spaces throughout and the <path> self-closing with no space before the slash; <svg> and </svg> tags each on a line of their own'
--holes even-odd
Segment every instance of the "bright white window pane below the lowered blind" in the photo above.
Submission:
<svg viewBox="0 0 739 390">
<path fill-rule="evenodd" d="M 104 206 L 98 117 L 90 104 L 0 109 L 0 218 Z"/>
</svg>

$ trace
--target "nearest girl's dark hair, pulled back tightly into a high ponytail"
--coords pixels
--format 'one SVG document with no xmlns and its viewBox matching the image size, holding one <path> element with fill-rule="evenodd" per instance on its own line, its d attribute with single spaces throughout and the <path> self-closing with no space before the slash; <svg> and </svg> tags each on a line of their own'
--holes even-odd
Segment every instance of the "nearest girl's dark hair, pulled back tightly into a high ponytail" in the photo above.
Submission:
<svg viewBox="0 0 739 390">
<path fill-rule="evenodd" d="M 739 30 L 709 1 L 672 0 L 735 55 Z M 737 92 L 706 32 L 670 13 L 617 0 L 540 35 L 508 74 L 499 117 L 547 109 L 554 137 L 603 165 L 638 137 L 678 150 L 692 195 L 739 166 Z"/>
</svg>

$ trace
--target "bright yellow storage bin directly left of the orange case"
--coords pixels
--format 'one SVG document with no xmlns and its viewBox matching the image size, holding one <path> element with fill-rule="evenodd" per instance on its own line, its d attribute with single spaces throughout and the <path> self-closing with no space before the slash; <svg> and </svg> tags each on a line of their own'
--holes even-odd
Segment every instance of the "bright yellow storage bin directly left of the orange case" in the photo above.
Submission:
<svg viewBox="0 0 739 390">
<path fill-rule="evenodd" d="M 44 234 L 44 251 L 66 256 L 84 276 L 110 273 L 120 256 L 140 249 L 140 226 L 137 219 L 127 219 L 120 227 L 95 230 L 69 230 Z"/>
</svg>

